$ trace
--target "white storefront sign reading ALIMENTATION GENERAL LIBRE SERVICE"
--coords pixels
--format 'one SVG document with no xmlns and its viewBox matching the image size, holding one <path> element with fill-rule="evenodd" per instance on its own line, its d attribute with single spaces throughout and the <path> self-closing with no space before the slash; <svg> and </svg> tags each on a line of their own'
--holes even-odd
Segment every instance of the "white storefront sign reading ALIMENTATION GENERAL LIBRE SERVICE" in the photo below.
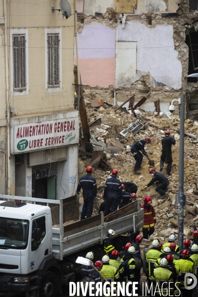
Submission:
<svg viewBox="0 0 198 297">
<path fill-rule="evenodd" d="M 78 144 L 78 118 L 14 126 L 14 152 Z"/>
</svg>

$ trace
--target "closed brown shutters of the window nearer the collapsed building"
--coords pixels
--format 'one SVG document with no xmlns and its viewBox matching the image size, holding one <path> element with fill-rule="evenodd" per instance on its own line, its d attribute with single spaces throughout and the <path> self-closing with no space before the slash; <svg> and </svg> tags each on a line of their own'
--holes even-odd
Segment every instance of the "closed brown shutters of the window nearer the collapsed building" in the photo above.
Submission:
<svg viewBox="0 0 198 297">
<path fill-rule="evenodd" d="M 59 88 L 59 34 L 48 34 L 48 88 Z"/>
</svg>

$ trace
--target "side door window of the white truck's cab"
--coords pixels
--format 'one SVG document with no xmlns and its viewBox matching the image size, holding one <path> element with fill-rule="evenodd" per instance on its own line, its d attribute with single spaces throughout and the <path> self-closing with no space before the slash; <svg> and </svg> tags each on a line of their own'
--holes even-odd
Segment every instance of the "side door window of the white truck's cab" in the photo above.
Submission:
<svg viewBox="0 0 198 297">
<path fill-rule="evenodd" d="M 46 236 L 46 217 L 43 216 L 32 222 L 31 249 L 36 250 Z"/>
</svg>

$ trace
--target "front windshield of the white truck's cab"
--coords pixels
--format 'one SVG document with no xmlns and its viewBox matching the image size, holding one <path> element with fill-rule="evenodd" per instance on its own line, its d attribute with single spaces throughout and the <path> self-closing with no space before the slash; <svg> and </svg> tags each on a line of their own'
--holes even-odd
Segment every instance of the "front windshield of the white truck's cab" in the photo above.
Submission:
<svg viewBox="0 0 198 297">
<path fill-rule="evenodd" d="M 0 248 L 25 249 L 28 233 L 28 220 L 0 217 Z"/>
</svg>

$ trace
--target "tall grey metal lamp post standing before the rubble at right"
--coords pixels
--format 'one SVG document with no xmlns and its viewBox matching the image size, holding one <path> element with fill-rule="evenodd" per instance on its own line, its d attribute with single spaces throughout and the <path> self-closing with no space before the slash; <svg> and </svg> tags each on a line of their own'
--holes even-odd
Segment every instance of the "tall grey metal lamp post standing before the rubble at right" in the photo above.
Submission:
<svg viewBox="0 0 198 297">
<path fill-rule="evenodd" d="M 184 122 L 185 95 L 181 94 L 180 105 L 180 147 L 179 147 L 179 184 L 178 184 L 178 246 L 184 243 Z"/>
</svg>

